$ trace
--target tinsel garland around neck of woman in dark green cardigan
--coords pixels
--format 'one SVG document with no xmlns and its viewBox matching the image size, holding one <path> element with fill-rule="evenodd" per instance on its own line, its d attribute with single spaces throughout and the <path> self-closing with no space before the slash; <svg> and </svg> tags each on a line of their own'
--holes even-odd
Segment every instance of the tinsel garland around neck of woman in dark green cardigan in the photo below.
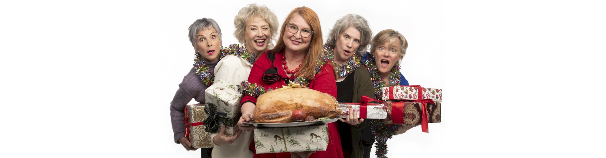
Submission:
<svg viewBox="0 0 606 158">
<path fill-rule="evenodd" d="M 353 71 L 360 67 L 360 61 L 362 59 L 362 56 L 358 53 L 354 53 L 354 55 L 352 55 L 351 58 L 347 60 L 347 62 L 345 62 L 343 65 L 337 66 L 335 63 L 335 54 L 333 49 L 334 46 L 334 43 L 324 44 L 324 49 L 322 49 L 321 57 L 324 57 L 325 61 L 330 60 L 331 63 L 333 63 L 333 66 L 335 66 L 337 69 L 337 75 L 339 75 L 339 78 L 347 77 L 349 74 L 353 73 Z"/>
</svg>

